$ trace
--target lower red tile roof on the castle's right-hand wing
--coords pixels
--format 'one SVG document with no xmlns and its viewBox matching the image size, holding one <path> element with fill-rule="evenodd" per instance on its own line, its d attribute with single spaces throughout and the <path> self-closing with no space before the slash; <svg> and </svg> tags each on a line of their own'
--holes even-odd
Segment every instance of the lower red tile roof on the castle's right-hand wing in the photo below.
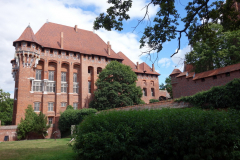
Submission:
<svg viewBox="0 0 240 160">
<path fill-rule="evenodd" d="M 146 73 L 146 74 L 160 75 L 156 71 L 153 72 L 152 68 L 149 67 L 145 62 L 139 64 L 139 69 L 137 69 L 136 68 L 137 65 L 135 65 L 127 56 L 125 56 L 125 54 L 123 54 L 122 52 L 118 52 L 117 54 L 124 59 L 122 63 L 130 66 L 132 68 L 132 70 L 136 73 Z"/>
</svg>

